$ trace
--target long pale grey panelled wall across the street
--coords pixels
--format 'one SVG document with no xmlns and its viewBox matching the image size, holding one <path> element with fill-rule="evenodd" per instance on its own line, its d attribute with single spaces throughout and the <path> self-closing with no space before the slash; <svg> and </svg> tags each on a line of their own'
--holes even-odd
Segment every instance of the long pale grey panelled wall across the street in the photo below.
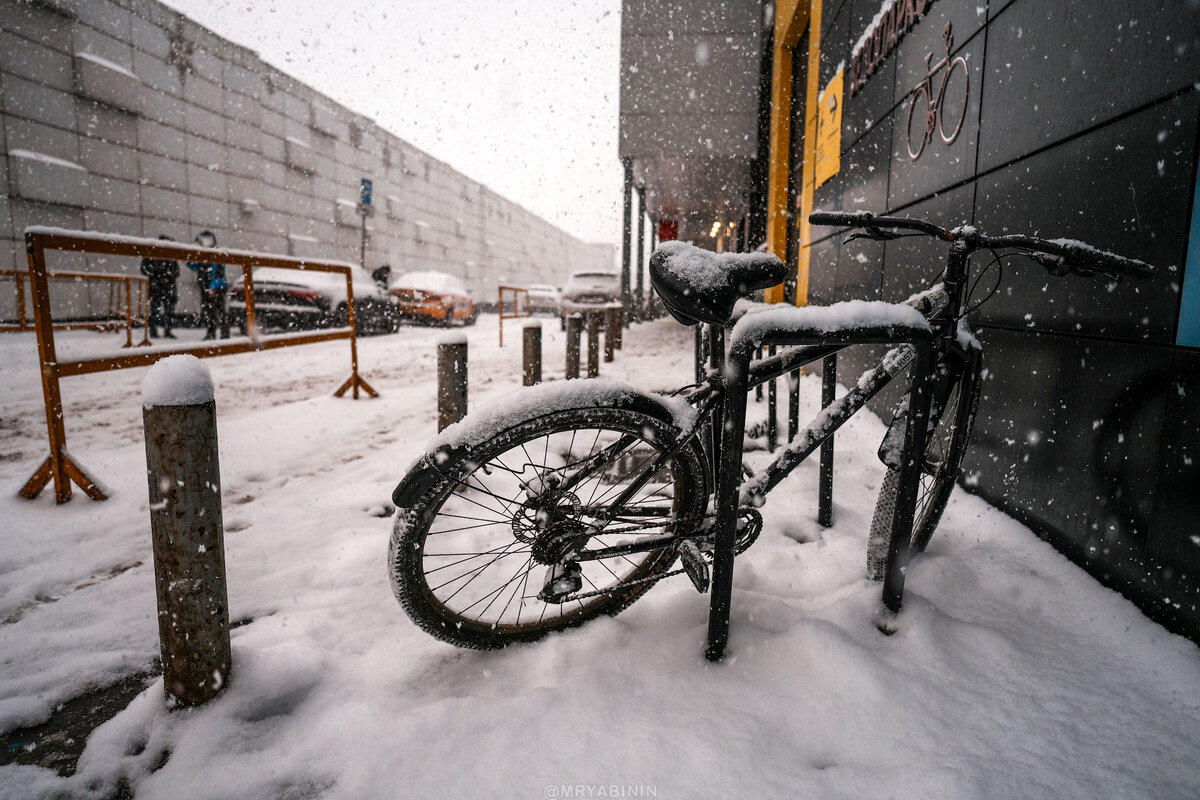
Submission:
<svg viewBox="0 0 1200 800">
<path fill-rule="evenodd" d="M 359 261 L 359 181 L 374 182 L 367 269 L 442 270 L 476 299 L 613 264 L 354 112 L 154 0 L 0 0 L 0 267 L 26 225 L 167 234 Z M 52 269 L 136 270 L 50 255 Z M 13 319 L 0 282 L 0 319 Z M 197 309 L 180 279 L 181 313 Z M 102 293 L 55 293 L 55 317 Z"/>
</svg>

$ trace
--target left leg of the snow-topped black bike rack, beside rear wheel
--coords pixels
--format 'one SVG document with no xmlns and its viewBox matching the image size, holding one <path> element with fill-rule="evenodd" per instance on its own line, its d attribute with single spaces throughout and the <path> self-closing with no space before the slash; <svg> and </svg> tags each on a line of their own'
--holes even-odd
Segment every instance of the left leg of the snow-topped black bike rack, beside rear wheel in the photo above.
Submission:
<svg viewBox="0 0 1200 800">
<path fill-rule="evenodd" d="M 722 331 L 724 333 L 724 331 Z M 724 337 L 722 337 L 724 338 Z M 724 342 L 719 344 L 724 345 Z M 730 601 L 733 595 L 733 557 L 737 547 L 738 482 L 742 479 L 742 445 L 746 421 L 746 374 L 751 350 L 734 348 L 725 361 L 725 398 L 718 427 L 720 450 L 716 471 L 716 541 L 713 552 L 713 587 L 708 609 L 708 648 L 704 657 L 720 661 L 730 638 Z"/>
</svg>

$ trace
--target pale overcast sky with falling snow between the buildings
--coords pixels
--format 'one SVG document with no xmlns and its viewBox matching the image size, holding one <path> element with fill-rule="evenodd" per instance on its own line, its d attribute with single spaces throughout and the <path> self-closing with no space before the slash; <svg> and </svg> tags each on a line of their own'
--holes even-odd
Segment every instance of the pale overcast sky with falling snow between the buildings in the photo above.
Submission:
<svg viewBox="0 0 1200 800">
<path fill-rule="evenodd" d="M 586 241 L 620 240 L 619 0 L 166 0 Z"/>
</svg>

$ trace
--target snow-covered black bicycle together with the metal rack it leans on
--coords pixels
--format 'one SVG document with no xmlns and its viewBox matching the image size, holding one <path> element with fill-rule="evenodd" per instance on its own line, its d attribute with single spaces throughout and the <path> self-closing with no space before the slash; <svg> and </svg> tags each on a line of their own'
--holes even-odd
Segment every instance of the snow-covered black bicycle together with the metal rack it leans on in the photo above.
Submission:
<svg viewBox="0 0 1200 800">
<path fill-rule="evenodd" d="M 810 221 L 852 228 L 851 237 L 934 236 L 949 246 L 946 267 L 904 303 L 740 313 L 740 297 L 784 279 L 778 258 L 662 243 L 650 259 L 655 290 L 676 319 L 715 332 L 718 357 L 706 379 L 670 397 L 606 380 L 534 386 L 438 434 L 392 494 L 391 585 L 420 627 L 461 646 L 500 648 L 616 614 L 656 582 L 686 575 L 697 590 L 710 591 L 707 656 L 719 658 L 733 559 L 762 529 L 757 507 L 905 375 L 880 447 L 887 475 L 868 553 L 883 603 L 896 612 L 904 567 L 941 518 L 979 402 L 982 347 L 965 318 L 988 297 L 971 305 L 971 254 L 995 255 L 985 271 L 1002 264 L 1003 253 L 1027 255 L 1058 276 L 1154 273 L 1070 240 L 985 236 L 970 225 L 947 230 L 865 212 L 817 212 Z M 742 461 L 748 392 L 859 344 L 889 349 L 766 469 L 751 473 Z M 755 357 L 763 345 L 784 349 Z"/>
</svg>

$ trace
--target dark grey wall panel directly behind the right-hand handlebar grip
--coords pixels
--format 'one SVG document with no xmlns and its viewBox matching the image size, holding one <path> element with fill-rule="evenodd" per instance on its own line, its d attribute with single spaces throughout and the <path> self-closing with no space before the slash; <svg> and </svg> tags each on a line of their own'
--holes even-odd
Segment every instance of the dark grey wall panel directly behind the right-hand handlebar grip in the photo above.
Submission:
<svg viewBox="0 0 1200 800">
<path fill-rule="evenodd" d="M 986 233 L 1080 239 L 1164 267 L 1181 265 L 1190 217 L 1180 198 L 1190 197 L 1195 178 L 1198 112 L 1196 95 L 1178 97 L 980 179 L 977 223 Z M 1006 270 L 1010 290 L 984 308 L 984 319 L 1170 343 L 1180 275 L 1108 285 L 1052 278 L 1014 260 Z"/>
</svg>

